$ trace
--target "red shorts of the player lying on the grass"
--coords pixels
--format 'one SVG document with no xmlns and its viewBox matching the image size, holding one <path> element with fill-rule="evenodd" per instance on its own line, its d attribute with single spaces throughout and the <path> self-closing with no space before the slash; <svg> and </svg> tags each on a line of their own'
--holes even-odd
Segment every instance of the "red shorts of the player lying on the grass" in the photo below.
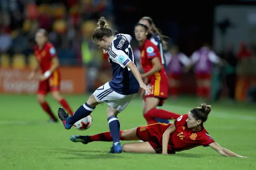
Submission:
<svg viewBox="0 0 256 170">
<path fill-rule="evenodd" d="M 149 144 L 156 150 L 156 152 L 162 152 L 162 136 L 164 131 L 170 127 L 170 124 L 154 123 L 151 125 L 137 127 L 136 134 L 140 140 L 149 142 Z"/>
</svg>

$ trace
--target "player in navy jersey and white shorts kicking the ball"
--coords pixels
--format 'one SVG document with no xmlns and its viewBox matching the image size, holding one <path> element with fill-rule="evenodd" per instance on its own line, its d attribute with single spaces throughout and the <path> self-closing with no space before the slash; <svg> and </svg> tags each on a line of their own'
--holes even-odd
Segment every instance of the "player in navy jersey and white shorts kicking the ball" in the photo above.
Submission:
<svg viewBox="0 0 256 170">
<path fill-rule="evenodd" d="M 58 109 L 58 116 L 64 127 L 70 129 L 74 123 L 90 115 L 96 105 L 107 103 L 108 125 L 113 138 L 110 153 L 122 152 L 118 113 L 128 106 L 140 87 L 151 93 L 150 89 L 143 83 L 136 67 L 130 39 L 131 37 L 126 34 L 114 36 L 114 32 L 108 27 L 105 18 L 101 17 L 98 28 L 92 35 L 92 40 L 99 48 L 108 50 L 108 60 L 113 69 L 113 79 L 94 91 L 88 101 L 81 105 L 73 116 L 68 117 L 64 109 Z"/>
</svg>

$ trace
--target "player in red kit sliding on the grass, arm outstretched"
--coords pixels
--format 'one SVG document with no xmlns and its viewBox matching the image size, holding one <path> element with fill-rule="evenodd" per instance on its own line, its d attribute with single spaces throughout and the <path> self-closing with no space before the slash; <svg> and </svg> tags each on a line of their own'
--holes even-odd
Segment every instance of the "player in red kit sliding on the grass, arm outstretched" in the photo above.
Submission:
<svg viewBox="0 0 256 170">
<path fill-rule="evenodd" d="M 124 152 L 175 154 L 197 146 L 210 146 L 223 156 L 246 158 L 218 145 L 203 126 L 211 107 L 202 105 L 188 114 L 178 117 L 174 123 L 155 123 L 129 130 L 120 131 L 120 140 L 143 140 L 144 142 L 127 143 L 122 146 Z M 93 141 L 112 141 L 110 132 L 92 136 L 72 135 L 70 140 L 88 144 Z"/>
</svg>

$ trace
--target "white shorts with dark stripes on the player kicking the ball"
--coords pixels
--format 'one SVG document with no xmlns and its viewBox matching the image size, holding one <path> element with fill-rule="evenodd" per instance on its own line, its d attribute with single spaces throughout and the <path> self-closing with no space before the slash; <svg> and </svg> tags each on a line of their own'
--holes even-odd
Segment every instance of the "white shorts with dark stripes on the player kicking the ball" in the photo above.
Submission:
<svg viewBox="0 0 256 170">
<path fill-rule="evenodd" d="M 110 86 L 109 82 L 99 87 L 93 93 L 98 103 L 107 103 L 110 107 L 115 108 L 117 111 L 123 111 L 130 101 L 137 95 L 121 95 L 116 93 Z"/>
</svg>

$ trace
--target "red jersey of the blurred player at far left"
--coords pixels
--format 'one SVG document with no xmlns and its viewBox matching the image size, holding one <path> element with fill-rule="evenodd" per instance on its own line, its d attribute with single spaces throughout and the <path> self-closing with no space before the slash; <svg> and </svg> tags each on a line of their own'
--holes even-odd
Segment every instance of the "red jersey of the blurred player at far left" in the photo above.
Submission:
<svg viewBox="0 0 256 170">
<path fill-rule="evenodd" d="M 52 58 L 57 57 L 56 49 L 50 42 L 45 43 L 42 49 L 39 49 L 38 45 L 35 45 L 34 53 L 42 73 L 50 69 Z M 56 71 L 58 71 L 58 69 Z"/>
</svg>

